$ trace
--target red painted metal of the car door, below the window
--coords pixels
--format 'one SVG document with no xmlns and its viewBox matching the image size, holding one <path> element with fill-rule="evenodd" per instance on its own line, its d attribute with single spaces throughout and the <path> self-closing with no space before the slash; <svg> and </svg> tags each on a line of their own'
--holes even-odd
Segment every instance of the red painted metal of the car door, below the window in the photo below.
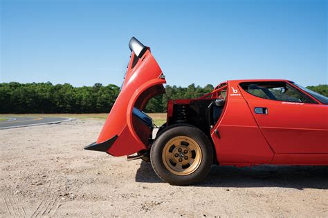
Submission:
<svg viewBox="0 0 328 218">
<path fill-rule="evenodd" d="M 286 103 L 243 93 L 262 132 L 275 153 L 328 154 L 327 106 Z M 268 115 L 257 115 L 255 107 L 268 108 Z"/>
</svg>

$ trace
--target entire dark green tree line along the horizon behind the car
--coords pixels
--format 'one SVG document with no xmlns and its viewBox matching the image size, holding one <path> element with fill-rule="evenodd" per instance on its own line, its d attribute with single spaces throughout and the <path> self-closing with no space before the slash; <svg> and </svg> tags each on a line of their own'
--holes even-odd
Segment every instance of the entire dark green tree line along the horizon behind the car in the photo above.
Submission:
<svg viewBox="0 0 328 218">
<path fill-rule="evenodd" d="M 149 101 L 146 112 L 166 112 L 168 99 L 190 99 L 211 92 L 213 86 L 165 86 L 166 94 Z M 328 97 L 328 85 L 307 88 Z M 109 112 L 120 88 L 102 86 L 73 87 L 69 83 L 0 83 L 0 113 L 100 113 Z"/>
</svg>

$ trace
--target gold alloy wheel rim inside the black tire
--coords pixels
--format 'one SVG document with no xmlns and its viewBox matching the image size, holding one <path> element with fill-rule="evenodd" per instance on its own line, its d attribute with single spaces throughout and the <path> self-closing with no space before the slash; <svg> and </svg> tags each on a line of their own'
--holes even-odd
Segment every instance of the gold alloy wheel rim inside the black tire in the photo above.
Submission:
<svg viewBox="0 0 328 218">
<path fill-rule="evenodd" d="M 174 175 L 186 176 L 199 168 L 203 156 L 201 147 L 194 139 L 179 136 L 165 144 L 162 159 L 165 168 Z"/>
</svg>

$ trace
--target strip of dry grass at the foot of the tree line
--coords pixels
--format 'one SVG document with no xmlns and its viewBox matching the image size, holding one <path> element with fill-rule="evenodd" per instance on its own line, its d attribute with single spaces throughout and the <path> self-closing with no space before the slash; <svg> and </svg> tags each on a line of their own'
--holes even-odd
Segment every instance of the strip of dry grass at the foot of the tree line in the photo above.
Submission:
<svg viewBox="0 0 328 218">
<path fill-rule="evenodd" d="M 149 113 L 149 117 L 154 119 L 156 126 L 161 126 L 166 122 L 166 113 Z M 105 120 L 108 114 L 3 114 L 1 115 L 0 121 L 6 121 L 6 117 L 70 117 L 76 119 L 102 119 Z"/>
</svg>

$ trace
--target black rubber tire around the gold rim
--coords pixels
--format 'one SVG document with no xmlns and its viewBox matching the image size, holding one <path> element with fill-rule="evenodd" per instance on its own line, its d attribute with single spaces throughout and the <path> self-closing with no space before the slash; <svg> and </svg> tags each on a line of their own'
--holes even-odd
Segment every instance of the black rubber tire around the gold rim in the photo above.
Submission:
<svg viewBox="0 0 328 218">
<path fill-rule="evenodd" d="M 170 172 L 163 161 L 162 155 L 165 145 L 170 143 L 169 141 L 176 137 L 191 138 L 200 148 L 202 157 L 201 161 L 199 161 L 197 168 L 188 175 L 176 175 L 174 172 Z M 208 172 L 210 172 L 210 166 L 213 163 L 213 150 L 210 140 L 201 130 L 199 130 L 199 128 L 188 124 L 179 124 L 161 132 L 161 135 L 152 145 L 150 160 L 156 175 L 158 175 L 163 181 L 166 181 L 171 185 L 188 186 L 191 184 L 197 184 L 208 175 Z"/>
</svg>

